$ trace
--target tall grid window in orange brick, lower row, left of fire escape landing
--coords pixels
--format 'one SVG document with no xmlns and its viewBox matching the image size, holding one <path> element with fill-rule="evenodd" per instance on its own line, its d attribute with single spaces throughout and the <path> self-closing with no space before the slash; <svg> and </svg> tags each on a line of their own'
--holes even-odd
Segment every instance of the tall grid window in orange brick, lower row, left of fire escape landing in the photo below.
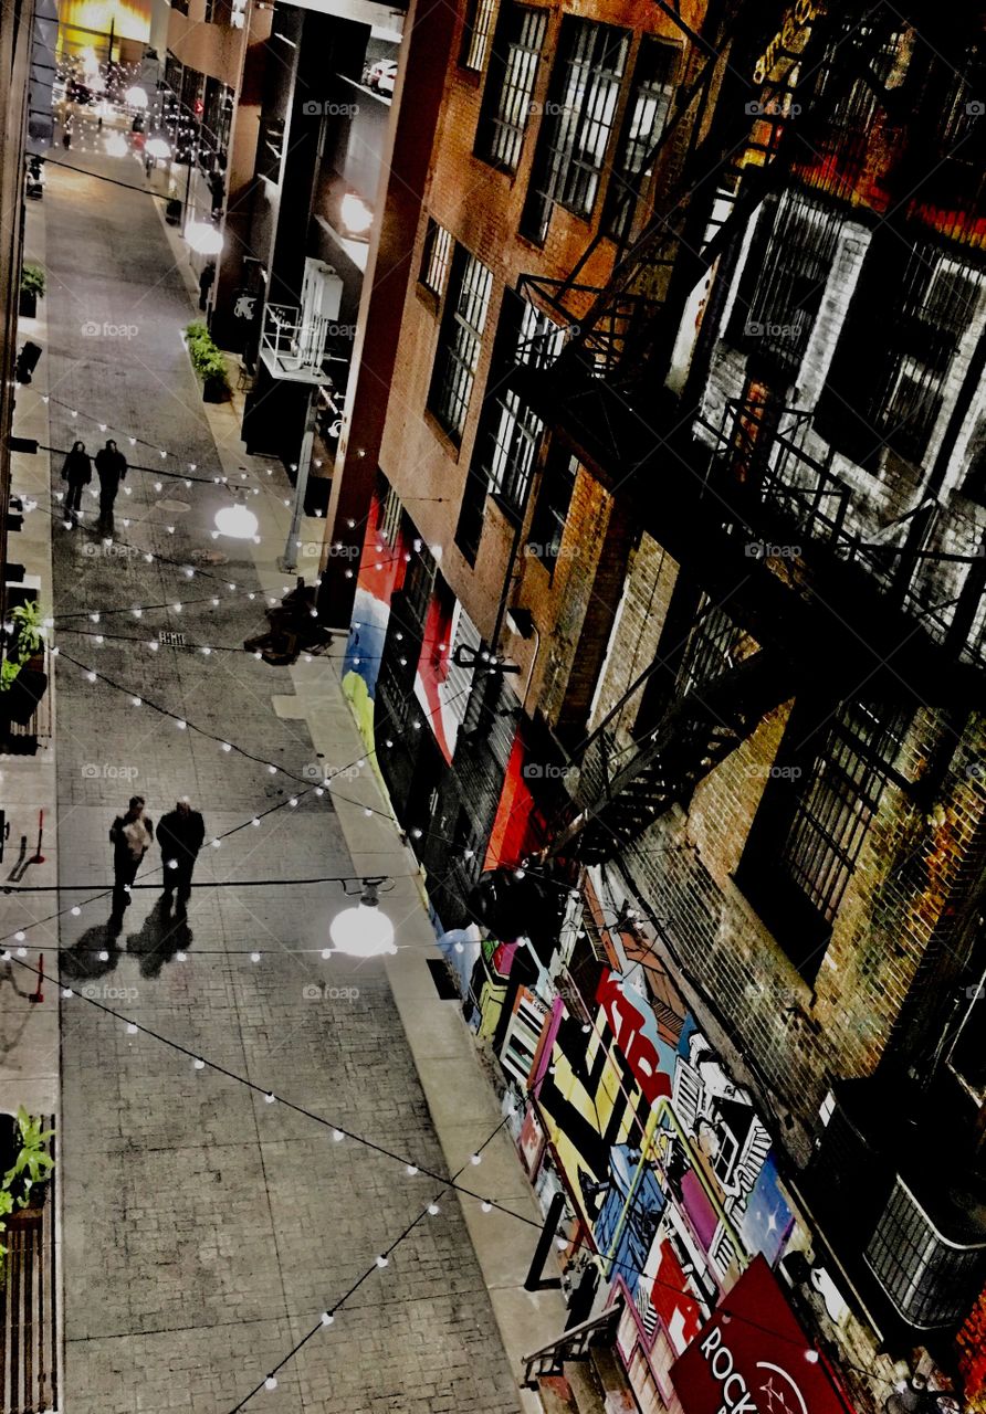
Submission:
<svg viewBox="0 0 986 1414">
<path fill-rule="evenodd" d="M 429 407 L 454 441 L 465 426 L 491 291 L 492 273 L 456 246 L 429 395 Z"/>
</svg>

